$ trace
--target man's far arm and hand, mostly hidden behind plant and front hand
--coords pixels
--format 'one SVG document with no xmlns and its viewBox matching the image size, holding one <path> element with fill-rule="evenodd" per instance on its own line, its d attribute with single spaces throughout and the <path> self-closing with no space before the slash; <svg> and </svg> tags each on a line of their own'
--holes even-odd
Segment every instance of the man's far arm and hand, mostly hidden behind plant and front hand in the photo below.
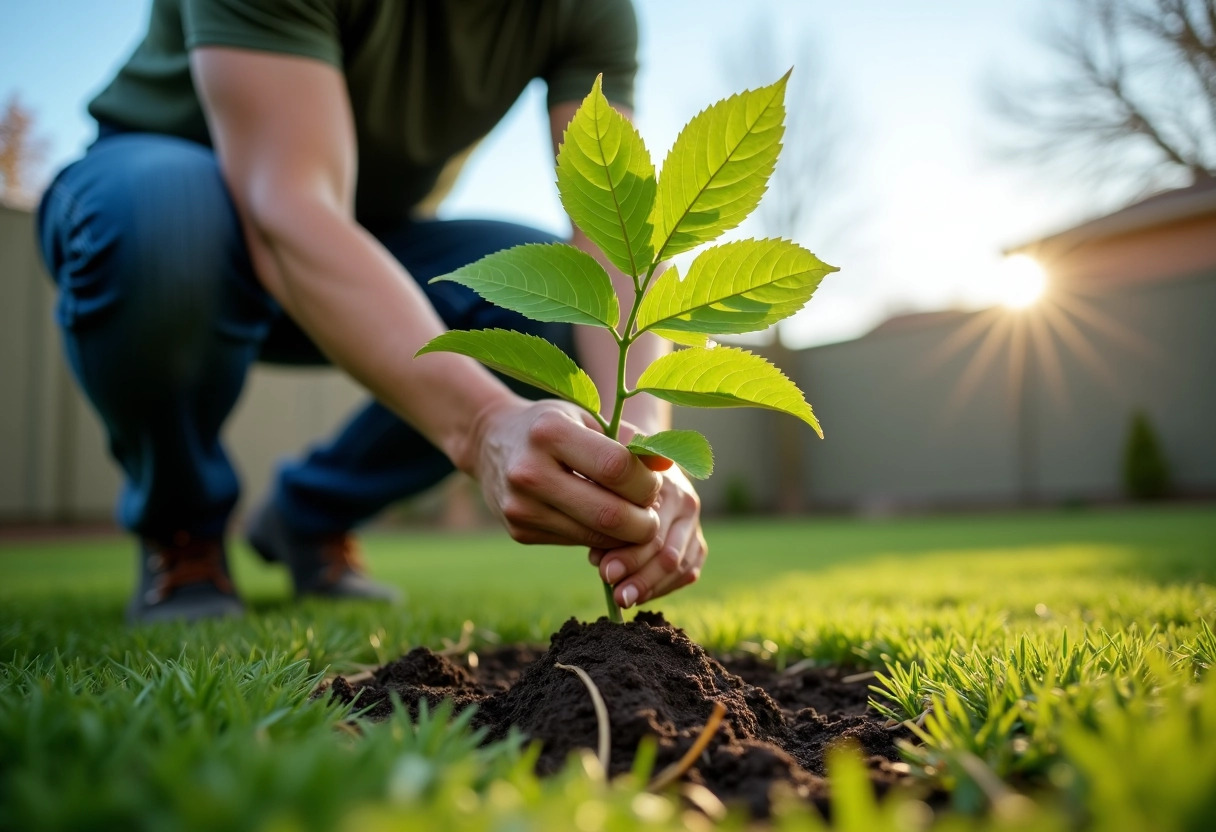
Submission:
<svg viewBox="0 0 1216 832">
<path fill-rule="evenodd" d="M 554 153 L 578 108 L 579 102 L 569 102 L 550 109 Z M 625 118 L 632 118 L 627 108 L 618 109 Z M 576 225 L 573 227 L 570 244 L 599 262 L 612 279 L 621 308 L 629 309 L 634 303 L 634 279 L 614 266 Z M 579 364 L 599 388 L 601 399 L 615 400 L 619 355 L 617 342 L 607 331 L 595 326 L 576 326 L 574 337 Z M 652 333 L 634 342 L 625 367 L 626 384 L 632 387 L 642 371 L 670 349 L 671 344 L 666 339 Z M 671 427 L 671 406 L 652 395 L 635 395 L 625 403 L 624 420 L 627 427 L 638 433 L 665 431 Z M 621 438 L 627 439 L 627 434 Z M 601 577 L 615 588 L 617 603 L 624 607 L 666 595 L 700 577 L 708 551 L 700 530 L 700 497 L 679 467 L 671 467 L 663 474 L 658 512 L 659 532 L 653 540 L 591 550 L 591 562 L 599 568 Z"/>
</svg>

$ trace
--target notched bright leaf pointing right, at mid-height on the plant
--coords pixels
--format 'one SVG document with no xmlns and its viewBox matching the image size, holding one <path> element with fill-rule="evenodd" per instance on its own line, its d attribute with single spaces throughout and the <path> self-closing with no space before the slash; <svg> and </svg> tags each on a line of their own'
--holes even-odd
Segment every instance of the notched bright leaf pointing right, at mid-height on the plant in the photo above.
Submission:
<svg viewBox="0 0 1216 832">
<path fill-rule="evenodd" d="M 668 269 L 642 300 L 638 331 L 756 332 L 789 317 L 837 271 L 788 240 L 739 240 L 702 252 L 688 276 Z"/>
</svg>

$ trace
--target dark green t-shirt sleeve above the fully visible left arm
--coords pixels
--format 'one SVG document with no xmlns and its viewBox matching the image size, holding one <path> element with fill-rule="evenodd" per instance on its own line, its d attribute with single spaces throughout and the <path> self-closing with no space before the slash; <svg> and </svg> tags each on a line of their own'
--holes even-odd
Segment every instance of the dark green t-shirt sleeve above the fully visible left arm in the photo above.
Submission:
<svg viewBox="0 0 1216 832">
<path fill-rule="evenodd" d="M 342 68 L 334 0 L 181 0 L 186 49 L 233 46 Z"/>
</svg>

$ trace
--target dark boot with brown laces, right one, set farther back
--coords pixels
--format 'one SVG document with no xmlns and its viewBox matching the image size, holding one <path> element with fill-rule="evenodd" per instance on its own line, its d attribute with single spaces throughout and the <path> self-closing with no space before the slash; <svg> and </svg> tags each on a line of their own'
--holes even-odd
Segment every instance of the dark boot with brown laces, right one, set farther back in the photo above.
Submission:
<svg viewBox="0 0 1216 832">
<path fill-rule="evenodd" d="M 282 563 L 292 574 L 295 595 L 327 598 L 366 598 L 396 603 L 401 594 L 367 577 L 354 535 L 297 534 L 274 500 L 268 500 L 249 518 L 249 545 L 268 563 Z"/>
</svg>

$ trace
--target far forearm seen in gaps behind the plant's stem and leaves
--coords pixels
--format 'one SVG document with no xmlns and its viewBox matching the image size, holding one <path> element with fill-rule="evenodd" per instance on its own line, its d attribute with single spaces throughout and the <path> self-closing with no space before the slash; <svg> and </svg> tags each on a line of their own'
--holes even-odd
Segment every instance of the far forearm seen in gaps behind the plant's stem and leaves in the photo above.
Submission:
<svg viewBox="0 0 1216 832">
<path fill-rule="evenodd" d="M 585 234 L 575 229 L 570 244 L 595 257 L 607 269 L 621 307 L 621 326 L 634 304 L 634 279 L 617 269 Z M 599 389 L 604 407 L 610 410 L 617 398 L 620 350 L 612 335 L 599 327 L 576 326 L 575 349 L 579 362 Z M 658 336 L 646 333 L 629 349 L 625 383 L 632 387 L 637 377 L 654 359 L 670 352 L 671 344 Z M 609 414 L 604 414 L 607 417 Z M 625 403 L 624 420 L 643 433 L 654 433 L 671 427 L 671 406 L 652 395 L 635 395 Z"/>
</svg>

